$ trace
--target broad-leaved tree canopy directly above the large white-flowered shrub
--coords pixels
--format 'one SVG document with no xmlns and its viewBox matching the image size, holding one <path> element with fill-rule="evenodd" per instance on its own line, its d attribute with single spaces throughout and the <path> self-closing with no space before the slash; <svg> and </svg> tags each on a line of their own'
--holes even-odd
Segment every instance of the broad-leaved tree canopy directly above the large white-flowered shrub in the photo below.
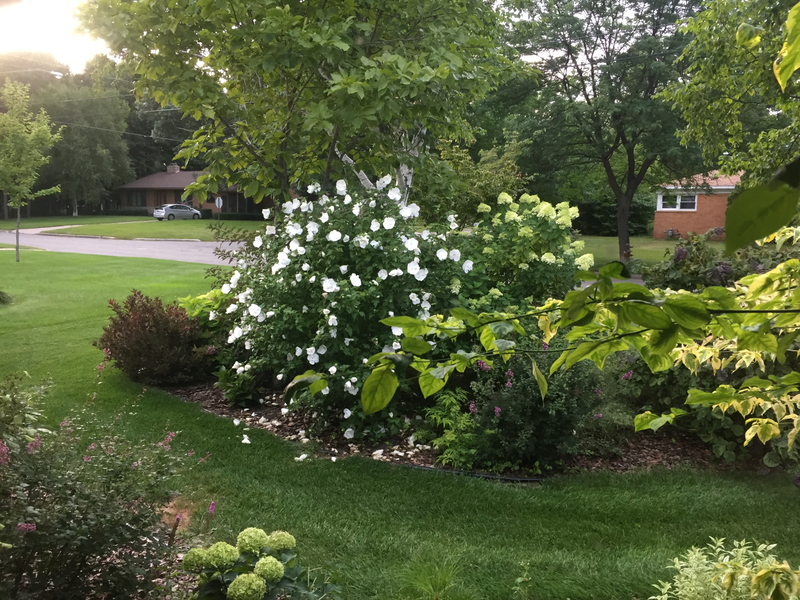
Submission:
<svg viewBox="0 0 800 600">
<path fill-rule="evenodd" d="M 503 63 L 482 0 L 92 0 L 82 18 L 139 94 L 204 119 L 182 156 L 207 154 L 209 187 L 256 200 L 468 136 Z"/>
</svg>

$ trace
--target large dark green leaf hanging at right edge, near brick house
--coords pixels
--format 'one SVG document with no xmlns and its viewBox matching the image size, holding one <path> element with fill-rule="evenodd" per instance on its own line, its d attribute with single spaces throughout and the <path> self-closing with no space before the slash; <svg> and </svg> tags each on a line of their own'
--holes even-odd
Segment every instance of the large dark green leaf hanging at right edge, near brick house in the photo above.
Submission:
<svg viewBox="0 0 800 600">
<path fill-rule="evenodd" d="M 725 251 L 731 253 L 788 225 L 798 199 L 800 190 L 783 182 L 743 192 L 725 213 Z"/>
</svg>

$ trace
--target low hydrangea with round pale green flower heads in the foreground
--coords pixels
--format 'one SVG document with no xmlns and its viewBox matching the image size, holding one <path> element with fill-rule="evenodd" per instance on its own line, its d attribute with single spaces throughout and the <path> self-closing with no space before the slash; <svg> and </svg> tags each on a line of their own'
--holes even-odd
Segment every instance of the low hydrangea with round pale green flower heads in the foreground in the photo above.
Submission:
<svg viewBox="0 0 800 600">
<path fill-rule="evenodd" d="M 320 580 L 297 562 L 294 536 L 285 531 L 269 535 L 257 527 L 244 529 L 236 546 L 217 542 L 208 549 L 192 548 L 183 568 L 197 575 L 200 598 L 262 600 L 262 598 L 340 598 L 330 579 Z"/>
</svg>

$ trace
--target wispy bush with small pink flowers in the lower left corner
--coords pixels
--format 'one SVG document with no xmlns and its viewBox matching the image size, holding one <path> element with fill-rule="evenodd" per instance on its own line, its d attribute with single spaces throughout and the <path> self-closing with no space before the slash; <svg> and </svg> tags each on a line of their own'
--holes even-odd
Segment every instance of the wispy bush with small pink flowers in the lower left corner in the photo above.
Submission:
<svg viewBox="0 0 800 600">
<path fill-rule="evenodd" d="M 144 598 L 168 551 L 161 509 L 188 457 L 120 436 L 120 414 L 38 422 L 46 386 L 0 383 L 0 597 Z"/>
</svg>

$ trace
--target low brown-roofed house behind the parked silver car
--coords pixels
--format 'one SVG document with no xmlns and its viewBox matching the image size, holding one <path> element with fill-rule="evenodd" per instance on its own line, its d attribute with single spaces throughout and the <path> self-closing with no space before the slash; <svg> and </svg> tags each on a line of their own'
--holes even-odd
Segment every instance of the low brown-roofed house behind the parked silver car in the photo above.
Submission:
<svg viewBox="0 0 800 600">
<path fill-rule="evenodd" d="M 153 209 L 162 204 L 182 203 L 181 196 L 186 187 L 194 183 L 202 175 L 202 171 L 182 171 L 176 164 L 167 166 L 166 171 L 154 173 L 131 181 L 119 188 L 121 208 L 146 208 L 153 214 Z M 222 209 L 215 204 L 217 197 L 222 198 Z M 221 191 L 214 197 L 198 198 L 193 196 L 191 201 L 186 201 L 195 208 L 209 208 L 213 213 L 247 213 L 258 214 L 265 206 L 257 206 L 252 198 L 245 198 L 244 194 L 235 187 Z"/>
</svg>

